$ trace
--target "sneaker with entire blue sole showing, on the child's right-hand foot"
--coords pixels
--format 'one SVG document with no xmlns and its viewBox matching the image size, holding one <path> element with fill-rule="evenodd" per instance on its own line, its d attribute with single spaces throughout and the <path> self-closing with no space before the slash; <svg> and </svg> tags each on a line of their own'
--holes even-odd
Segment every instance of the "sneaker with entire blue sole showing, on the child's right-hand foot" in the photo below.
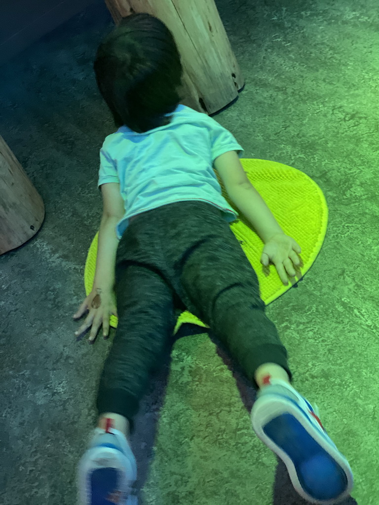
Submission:
<svg viewBox="0 0 379 505">
<path fill-rule="evenodd" d="M 331 505 L 349 496 L 353 474 L 330 440 L 315 409 L 290 384 L 272 379 L 260 389 L 251 411 L 258 437 L 285 463 L 305 500 Z"/>
</svg>

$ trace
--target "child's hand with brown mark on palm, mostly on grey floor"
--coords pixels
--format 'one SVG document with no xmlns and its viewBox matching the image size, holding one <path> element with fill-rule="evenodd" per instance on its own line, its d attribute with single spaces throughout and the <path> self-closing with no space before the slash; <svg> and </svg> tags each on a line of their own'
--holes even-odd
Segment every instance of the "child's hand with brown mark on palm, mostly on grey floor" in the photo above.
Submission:
<svg viewBox="0 0 379 505">
<path fill-rule="evenodd" d="M 99 291 L 99 293 L 98 293 Z M 96 301 L 100 303 L 97 304 L 99 307 L 94 309 L 92 307 L 92 301 L 95 296 L 99 294 L 99 297 Z M 73 318 L 77 319 L 82 317 L 82 315 L 89 311 L 89 314 L 81 325 L 81 327 L 75 332 L 75 335 L 80 335 L 83 331 L 89 328 L 92 325 L 91 332 L 89 335 L 88 342 L 92 343 L 96 338 L 100 326 L 103 324 L 103 335 L 104 339 L 108 338 L 109 333 L 109 316 L 111 314 L 117 316 L 117 306 L 116 306 L 116 294 L 113 290 L 100 290 L 100 289 L 92 289 L 89 295 L 85 298 L 81 306 L 79 307 L 76 314 L 74 314 Z"/>
</svg>

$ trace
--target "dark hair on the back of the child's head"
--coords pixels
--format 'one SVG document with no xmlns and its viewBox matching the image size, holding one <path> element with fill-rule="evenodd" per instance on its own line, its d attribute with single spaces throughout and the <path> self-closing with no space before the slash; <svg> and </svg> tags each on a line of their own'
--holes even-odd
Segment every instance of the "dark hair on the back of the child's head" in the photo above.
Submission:
<svg viewBox="0 0 379 505">
<path fill-rule="evenodd" d="M 115 126 L 143 133 L 169 124 L 180 103 L 182 65 L 167 26 L 147 13 L 122 18 L 101 42 L 93 64 Z"/>
</svg>

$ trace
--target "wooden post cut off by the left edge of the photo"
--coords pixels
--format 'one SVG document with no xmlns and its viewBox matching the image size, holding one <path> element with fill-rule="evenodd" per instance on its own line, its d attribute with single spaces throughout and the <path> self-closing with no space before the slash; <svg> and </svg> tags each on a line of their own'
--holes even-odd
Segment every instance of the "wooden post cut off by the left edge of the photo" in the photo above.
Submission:
<svg viewBox="0 0 379 505">
<path fill-rule="evenodd" d="M 42 198 L 0 136 L 0 255 L 35 235 L 44 215 Z"/>
</svg>

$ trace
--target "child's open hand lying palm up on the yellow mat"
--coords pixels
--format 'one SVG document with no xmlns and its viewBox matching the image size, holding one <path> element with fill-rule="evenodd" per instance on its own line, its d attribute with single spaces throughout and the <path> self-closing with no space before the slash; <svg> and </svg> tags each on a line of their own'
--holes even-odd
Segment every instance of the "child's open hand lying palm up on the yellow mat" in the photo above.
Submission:
<svg viewBox="0 0 379 505">
<path fill-rule="evenodd" d="M 301 260 L 297 253 L 300 254 L 300 245 L 285 233 L 277 233 L 273 235 L 265 244 L 262 252 L 261 263 L 267 267 L 271 261 L 279 274 L 280 280 L 286 286 L 288 285 L 287 273 L 290 277 L 295 277 L 300 274 L 300 269 L 297 272 L 295 267 L 302 266 Z"/>
</svg>

